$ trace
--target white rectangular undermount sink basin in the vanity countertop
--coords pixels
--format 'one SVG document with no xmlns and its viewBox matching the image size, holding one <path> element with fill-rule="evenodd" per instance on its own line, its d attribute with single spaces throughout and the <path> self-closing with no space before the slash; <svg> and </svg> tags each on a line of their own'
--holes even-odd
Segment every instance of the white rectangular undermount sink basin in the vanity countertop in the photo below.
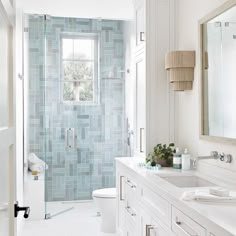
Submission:
<svg viewBox="0 0 236 236">
<path fill-rule="evenodd" d="M 198 176 L 160 176 L 160 177 L 179 188 L 215 186 L 215 184 L 205 179 L 202 179 Z"/>
</svg>

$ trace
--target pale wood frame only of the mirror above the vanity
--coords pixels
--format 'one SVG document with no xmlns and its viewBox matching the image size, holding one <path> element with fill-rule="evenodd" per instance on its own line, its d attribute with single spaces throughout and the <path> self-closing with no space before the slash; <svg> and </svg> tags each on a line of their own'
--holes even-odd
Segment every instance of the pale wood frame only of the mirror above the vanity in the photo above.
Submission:
<svg viewBox="0 0 236 236">
<path fill-rule="evenodd" d="M 229 0 L 225 2 L 223 5 L 218 7 L 216 10 L 212 11 L 210 14 L 206 15 L 202 19 L 199 20 L 199 82 L 200 82 L 200 89 L 199 89 L 199 97 L 200 97 L 200 139 L 206 141 L 213 141 L 213 142 L 221 142 L 227 144 L 234 144 L 236 145 L 236 138 L 226 138 L 220 136 L 210 136 L 204 134 L 204 69 L 203 69 L 203 24 L 207 23 L 208 21 L 212 20 L 213 18 L 219 16 L 220 14 L 224 13 L 225 11 L 229 10 L 230 8 L 236 6 L 236 0 Z"/>
</svg>

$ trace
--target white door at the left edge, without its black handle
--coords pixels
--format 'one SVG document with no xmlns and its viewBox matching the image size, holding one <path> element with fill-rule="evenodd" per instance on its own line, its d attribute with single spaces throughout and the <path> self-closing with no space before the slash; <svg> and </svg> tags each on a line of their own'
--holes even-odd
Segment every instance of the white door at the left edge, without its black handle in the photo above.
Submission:
<svg viewBox="0 0 236 236">
<path fill-rule="evenodd" d="M 0 1 L 0 235 L 15 236 L 13 27 Z"/>
</svg>

